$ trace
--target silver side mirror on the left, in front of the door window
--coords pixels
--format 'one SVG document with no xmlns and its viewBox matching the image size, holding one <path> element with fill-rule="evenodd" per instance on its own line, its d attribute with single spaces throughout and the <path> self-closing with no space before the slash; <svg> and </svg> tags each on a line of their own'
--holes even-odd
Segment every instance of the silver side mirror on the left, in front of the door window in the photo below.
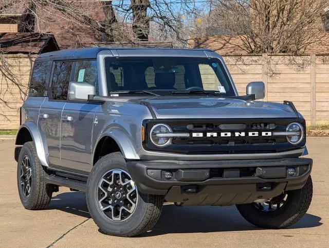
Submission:
<svg viewBox="0 0 329 248">
<path fill-rule="evenodd" d="M 85 82 L 68 84 L 68 99 L 71 101 L 87 101 L 88 95 L 95 95 L 95 86 Z"/>
</svg>

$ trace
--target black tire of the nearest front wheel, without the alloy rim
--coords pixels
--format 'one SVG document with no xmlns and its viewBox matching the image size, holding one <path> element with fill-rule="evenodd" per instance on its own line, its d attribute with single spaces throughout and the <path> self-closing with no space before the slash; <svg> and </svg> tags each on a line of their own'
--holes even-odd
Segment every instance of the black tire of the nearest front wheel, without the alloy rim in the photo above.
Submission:
<svg viewBox="0 0 329 248">
<path fill-rule="evenodd" d="M 136 208 L 129 218 L 122 221 L 114 221 L 106 217 L 100 209 L 97 196 L 98 184 L 106 172 L 114 169 L 129 173 L 120 152 L 103 156 L 97 161 L 90 172 L 86 192 L 86 201 L 90 216 L 103 234 L 133 237 L 149 231 L 160 217 L 163 196 L 143 194 L 137 188 L 138 200 Z"/>
</svg>

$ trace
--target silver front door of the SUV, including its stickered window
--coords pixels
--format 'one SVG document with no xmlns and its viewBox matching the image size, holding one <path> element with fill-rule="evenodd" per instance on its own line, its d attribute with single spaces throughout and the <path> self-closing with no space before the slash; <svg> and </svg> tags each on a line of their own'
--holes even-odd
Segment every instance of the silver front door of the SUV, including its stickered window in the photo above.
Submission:
<svg viewBox="0 0 329 248">
<path fill-rule="evenodd" d="M 75 82 L 86 82 L 96 86 L 98 77 L 96 60 L 74 63 Z M 92 169 L 92 134 L 94 115 L 99 104 L 92 102 L 72 102 L 67 100 L 61 120 L 61 163 L 72 172 L 87 174 Z"/>
</svg>

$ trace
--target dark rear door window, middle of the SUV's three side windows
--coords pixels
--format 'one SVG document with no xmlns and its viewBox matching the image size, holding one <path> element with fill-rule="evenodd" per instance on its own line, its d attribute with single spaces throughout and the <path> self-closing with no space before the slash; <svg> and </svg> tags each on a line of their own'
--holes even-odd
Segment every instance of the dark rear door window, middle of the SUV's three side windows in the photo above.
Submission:
<svg viewBox="0 0 329 248">
<path fill-rule="evenodd" d="M 51 82 L 52 99 L 67 99 L 67 88 L 70 81 L 72 63 L 72 61 L 60 61 L 55 63 Z"/>
</svg>

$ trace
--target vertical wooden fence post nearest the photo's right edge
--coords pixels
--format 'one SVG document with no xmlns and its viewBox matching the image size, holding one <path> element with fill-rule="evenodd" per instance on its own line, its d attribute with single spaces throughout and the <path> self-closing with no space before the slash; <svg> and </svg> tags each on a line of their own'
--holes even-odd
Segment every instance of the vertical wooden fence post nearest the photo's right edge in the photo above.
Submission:
<svg viewBox="0 0 329 248">
<path fill-rule="evenodd" d="M 316 55 L 310 55 L 310 125 L 317 124 L 317 72 Z"/>
</svg>

